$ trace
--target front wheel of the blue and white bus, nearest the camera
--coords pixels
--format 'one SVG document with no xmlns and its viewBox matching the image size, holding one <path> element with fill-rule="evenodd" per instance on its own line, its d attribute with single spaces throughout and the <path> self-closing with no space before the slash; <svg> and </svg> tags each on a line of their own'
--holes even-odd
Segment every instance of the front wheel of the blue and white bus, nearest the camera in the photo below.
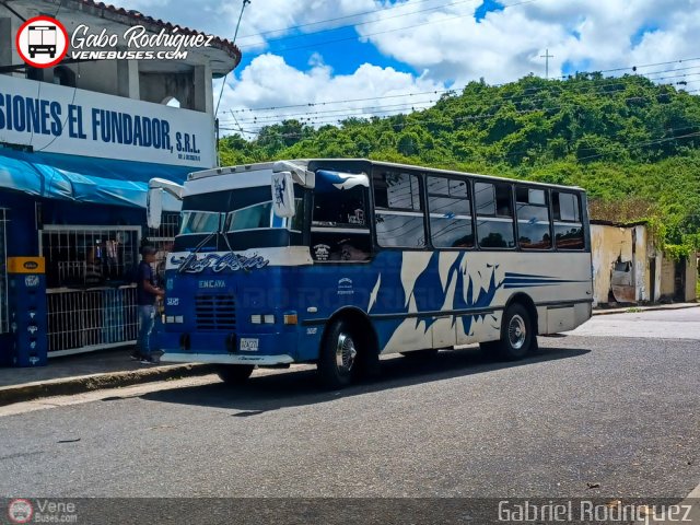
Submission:
<svg viewBox="0 0 700 525">
<path fill-rule="evenodd" d="M 336 320 L 328 327 L 318 357 L 318 376 L 327 388 L 348 386 L 357 374 L 358 338 L 351 325 Z"/>
</svg>

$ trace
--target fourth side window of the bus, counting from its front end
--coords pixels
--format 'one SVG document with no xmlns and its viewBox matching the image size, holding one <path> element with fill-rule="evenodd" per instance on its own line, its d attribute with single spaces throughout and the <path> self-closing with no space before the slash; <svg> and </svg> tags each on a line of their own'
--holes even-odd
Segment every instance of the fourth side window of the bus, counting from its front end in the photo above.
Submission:
<svg viewBox="0 0 700 525">
<path fill-rule="evenodd" d="M 481 248 L 514 248 L 511 185 L 475 183 L 474 198 L 479 246 Z"/>
</svg>

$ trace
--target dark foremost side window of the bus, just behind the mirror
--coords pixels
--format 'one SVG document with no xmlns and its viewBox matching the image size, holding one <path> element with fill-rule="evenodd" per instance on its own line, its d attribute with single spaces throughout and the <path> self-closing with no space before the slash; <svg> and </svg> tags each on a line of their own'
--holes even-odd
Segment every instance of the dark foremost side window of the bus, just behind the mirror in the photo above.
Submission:
<svg viewBox="0 0 700 525">
<path fill-rule="evenodd" d="M 320 173 L 317 176 L 323 176 Z M 332 176 L 332 175 L 329 175 Z M 372 257 L 368 222 L 369 189 L 354 185 L 317 185 L 311 228 L 311 255 L 319 262 L 366 261 Z M 350 186 L 350 187 L 348 187 Z M 298 213 L 302 217 L 301 213 Z"/>
</svg>

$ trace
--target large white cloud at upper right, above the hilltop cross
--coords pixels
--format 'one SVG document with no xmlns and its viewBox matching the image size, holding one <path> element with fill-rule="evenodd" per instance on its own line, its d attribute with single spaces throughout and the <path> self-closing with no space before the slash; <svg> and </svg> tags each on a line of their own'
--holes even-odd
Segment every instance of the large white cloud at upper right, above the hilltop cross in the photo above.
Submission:
<svg viewBox="0 0 700 525">
<path fill-rule="evenodd" d="M 412 19 L 387 14 L 359 31 L 387 56 L 428 69 L 438 81 L 457 83 L 480 77 L 508 82 L 530 71 L 542 74 L 539 56 L 546 48 L 555 55 L 550 72 L 557 75 L 567 61 L 600 70 L 697 55 L 699 0 L 536 0 L 490 12 L 477 23 L 471 15 L 479 3 Z M 424 25 L 401 28 L 417 24 Z M 656 31 L 634 45 L 642 27 Z"/>
</svg>

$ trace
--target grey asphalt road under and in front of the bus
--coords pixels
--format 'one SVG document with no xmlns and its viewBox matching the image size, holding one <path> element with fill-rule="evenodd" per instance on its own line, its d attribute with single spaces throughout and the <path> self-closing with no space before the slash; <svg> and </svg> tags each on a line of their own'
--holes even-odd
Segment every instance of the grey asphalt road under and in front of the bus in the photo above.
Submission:
<svg viewBox="0 0 700 525">
<path fill-rule="evenodd" d="M 342 392 L 296 369 L 240 388 L 205 377 L 0 411 L 0 494 L 688 494 L 700 308 L 600 316 L 576 334 L 540 338 L 516 364 L 474 349 L 394 358 Z"/>
</svg>

